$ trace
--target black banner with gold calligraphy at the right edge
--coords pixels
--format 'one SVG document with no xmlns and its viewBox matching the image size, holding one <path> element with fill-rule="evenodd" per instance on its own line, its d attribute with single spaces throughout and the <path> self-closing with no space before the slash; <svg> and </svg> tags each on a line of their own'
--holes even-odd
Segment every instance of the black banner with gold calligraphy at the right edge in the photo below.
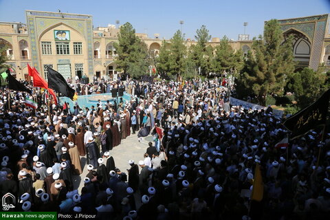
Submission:
<svg viewBox="0 0 330 220">
<path fill-rule="evenodd" d="M 304 135 L 311 129 L 318 126 L 325 126 L 329 106 L 330 89 L 313 104 L 303 110 L 298 111 L 290 118 L 285 120 L 284 125 L 292 131 L 291 139 Z"/>
</svg>

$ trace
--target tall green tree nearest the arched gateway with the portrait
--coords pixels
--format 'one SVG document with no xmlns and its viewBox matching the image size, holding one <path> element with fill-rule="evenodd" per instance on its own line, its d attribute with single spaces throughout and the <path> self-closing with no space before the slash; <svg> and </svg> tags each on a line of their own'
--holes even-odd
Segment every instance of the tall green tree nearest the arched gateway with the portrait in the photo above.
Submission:
<svg viewBox="0 0 330 220">
<path fill-rule="evenodd" d="M 118 43 L 114 44 L 118 58 L 115 61 L 118 71 L 138 78 L 148 70 L 148 47 L 135 35 L 131 23 L 120 26 Z"/>
</svg>

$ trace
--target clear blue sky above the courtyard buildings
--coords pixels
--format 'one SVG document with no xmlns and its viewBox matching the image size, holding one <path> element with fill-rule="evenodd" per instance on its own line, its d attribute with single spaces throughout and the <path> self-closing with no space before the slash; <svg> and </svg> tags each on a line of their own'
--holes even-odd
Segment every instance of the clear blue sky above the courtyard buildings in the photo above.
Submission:
<svg viewBox="0 0 330 220">
<path fill-rule="evenodd" d="M 195 39 L 196 30 L 206 25 L 212 37 L 238 39 L 244 33 L 250 39 L 263 34 L 264 21 L 290 19 L 330 12 L 330 0 L 122 0 L 122 1 L 49 1 L 0 0 L 0 21 L 26 23 L 25 10 L 90 14 L 94 28 L 129 22 L 137 33 L 170 39 L 181 29 L 186 39 Z"/>
</svg>

